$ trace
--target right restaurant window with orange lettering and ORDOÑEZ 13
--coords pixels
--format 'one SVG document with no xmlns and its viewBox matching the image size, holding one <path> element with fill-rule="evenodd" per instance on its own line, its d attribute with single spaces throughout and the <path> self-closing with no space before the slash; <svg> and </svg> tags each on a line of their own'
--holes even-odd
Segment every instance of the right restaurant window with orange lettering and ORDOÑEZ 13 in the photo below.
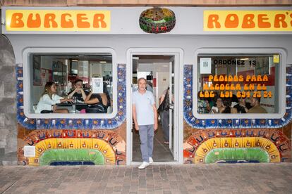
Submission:
<svg viewBox="0 0 292 194">
<path fill-rule="evenodd" d="M 282 117 L 285 111 L 282 57 L 280 52 L 197 53 L 194 115 Z"/>
</svg>

